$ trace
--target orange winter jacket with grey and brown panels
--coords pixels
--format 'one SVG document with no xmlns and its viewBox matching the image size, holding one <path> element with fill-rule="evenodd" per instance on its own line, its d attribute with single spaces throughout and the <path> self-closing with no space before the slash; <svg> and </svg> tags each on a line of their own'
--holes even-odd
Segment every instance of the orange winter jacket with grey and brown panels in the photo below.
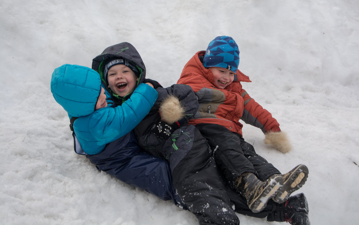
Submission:
<svg viewBox="0 0 359 225">
<path fill-rule="evenodd" d="M 177 81 L 177 84 L 190 85 L 200 104 L 199 111 L 194 119 L 190 119 L 190 123 L 216 123 L 242 136 L 243 125 L 239 122 L 242 119 L 264 133 L 280 131 L 279 123 L 272 114 L 242 89 L 240 81 L 252 82 L 248 76 L 237 70 L 232 84 L 220 89 L 213 82 L 212 71 L 202 64 L 204 54 L 205 51 L 197 52 L 187 62 Z"/>
</svg>

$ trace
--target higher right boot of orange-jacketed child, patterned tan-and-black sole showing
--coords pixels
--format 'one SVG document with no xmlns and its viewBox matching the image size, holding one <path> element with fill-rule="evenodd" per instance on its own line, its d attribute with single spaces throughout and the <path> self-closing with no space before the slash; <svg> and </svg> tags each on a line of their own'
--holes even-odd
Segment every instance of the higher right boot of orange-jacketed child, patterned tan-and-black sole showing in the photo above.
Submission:
<svg viewBox="0 0 359 225">
<path fill-rule="evenodd" d="M 283 177 L 283 186 L 279 188 L 278 193 L 272 198 L 277 203 L 283 203 L 288 200 L 290 194 L 297 191 L 306 183 L 308 178 L 308 168 L 306 165 L 300 164 L 294 167 L 286 174 L 281 174 Z M 275 174 L 273 176 L 276 176 Z M 272 176 L 272 177 L 273 177 Z M 271 178 L 271 177 L 270 177 Z"/>
</svg>

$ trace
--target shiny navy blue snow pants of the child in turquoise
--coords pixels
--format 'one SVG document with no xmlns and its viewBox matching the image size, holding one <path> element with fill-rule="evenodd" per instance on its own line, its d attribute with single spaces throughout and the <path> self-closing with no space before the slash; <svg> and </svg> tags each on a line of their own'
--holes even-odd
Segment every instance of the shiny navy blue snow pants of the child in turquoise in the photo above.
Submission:
<svg viewBox="0 0 359 225">
<path fill-rule="evenodd" d="M 140 150 L 134 133 L 112 141 L 101 153 L 87 155 L 91 163 L 121 181 L 154 194 L 162 200 L 173 200 L 179 206 L 168 162 Z"/>
</svg>

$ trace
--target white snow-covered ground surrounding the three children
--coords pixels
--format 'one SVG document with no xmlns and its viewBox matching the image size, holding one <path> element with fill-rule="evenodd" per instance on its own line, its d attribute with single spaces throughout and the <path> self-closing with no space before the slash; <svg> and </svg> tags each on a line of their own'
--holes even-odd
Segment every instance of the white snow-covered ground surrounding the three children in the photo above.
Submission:
<svg viewBox="0 0 359 225">
<path fill-rule="evenodd" d="M 91 67 L 127 41 L 147 77 L 176 83 L 216 36 L 232 36 L 244 89 L 286 131 L 281 154 L 244 138 L 281 172 L 304 163 L 313 225 L 358 224 L 359 3 L 356 0 L 0 0 L 0 224 L 195 225 L 188 211 L 98 172 L 73 151 L 53 69 Z M 238 214 L 241 224 L 281 224 Z"/>
</svg>

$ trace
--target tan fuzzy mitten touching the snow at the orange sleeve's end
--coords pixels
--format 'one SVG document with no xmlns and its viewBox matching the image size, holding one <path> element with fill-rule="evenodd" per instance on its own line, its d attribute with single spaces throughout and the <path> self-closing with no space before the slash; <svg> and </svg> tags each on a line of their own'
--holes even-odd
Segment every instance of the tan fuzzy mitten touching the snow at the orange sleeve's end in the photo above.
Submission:
<svg viewBox="0 0 359 225">
<path fill-rule="evenodd" d="M 267 132 L 264 139 L 264 144 L 270 145 L 282 153 L 287 153 L 292 149 L 292 145 L 290 145 L 287 135 L 283 131 Z"/>
</svg>

